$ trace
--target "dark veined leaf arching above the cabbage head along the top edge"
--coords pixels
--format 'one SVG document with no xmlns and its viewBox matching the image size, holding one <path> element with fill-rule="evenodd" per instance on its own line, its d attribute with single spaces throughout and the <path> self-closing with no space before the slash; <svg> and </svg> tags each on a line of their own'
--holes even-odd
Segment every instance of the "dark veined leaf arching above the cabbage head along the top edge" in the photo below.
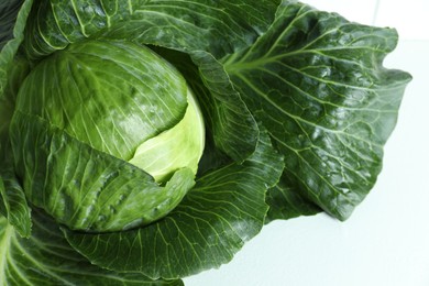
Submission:
<svg viewBox="0 0 429 286">
<path fill-rule="evenodd" d="M 277 1 L 42 1 L 28 26 L 30 57 L 87 37 L 135 40 L 217 58 L 254 43 L 273 21 Z"/>
</svg>

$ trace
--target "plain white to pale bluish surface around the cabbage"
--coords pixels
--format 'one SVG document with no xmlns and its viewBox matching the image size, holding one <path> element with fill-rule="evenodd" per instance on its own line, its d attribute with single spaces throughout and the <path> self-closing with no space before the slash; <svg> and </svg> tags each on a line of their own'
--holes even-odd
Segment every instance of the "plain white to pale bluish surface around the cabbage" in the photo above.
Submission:
<svg viewBox="0 0 429 286">
<path fill-rule="evenodd" d="M 413 74 L 384 168 L 345 222 L 275 221 L 219 270 L 187 286 L 429 286 L 429 0 L 304 0 L 351 21 L 393 26 L 385 66 Z"/>
</svg>

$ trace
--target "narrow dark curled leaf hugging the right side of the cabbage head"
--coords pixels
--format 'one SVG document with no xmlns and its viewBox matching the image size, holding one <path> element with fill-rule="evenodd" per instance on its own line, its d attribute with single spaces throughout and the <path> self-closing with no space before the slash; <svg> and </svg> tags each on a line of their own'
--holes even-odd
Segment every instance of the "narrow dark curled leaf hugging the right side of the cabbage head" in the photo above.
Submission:
<svg viewBox="0 0 429 286">
<path fill-rule="evenodd" d="M 218 148 L 235 161 L 249 157 L 255 150 L 258 128 L 233 89 L 223 66 L 206 52 L 193 52 L 188 56 L 166 48 L 153 48 L 179 69 L 198 95 L 209 140 L 213 140 Z"/>
</svg>

